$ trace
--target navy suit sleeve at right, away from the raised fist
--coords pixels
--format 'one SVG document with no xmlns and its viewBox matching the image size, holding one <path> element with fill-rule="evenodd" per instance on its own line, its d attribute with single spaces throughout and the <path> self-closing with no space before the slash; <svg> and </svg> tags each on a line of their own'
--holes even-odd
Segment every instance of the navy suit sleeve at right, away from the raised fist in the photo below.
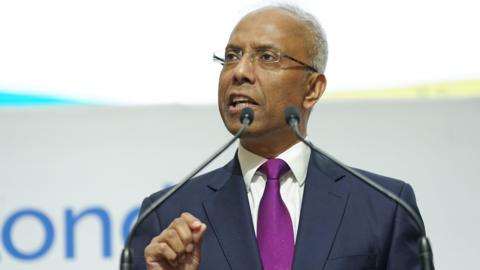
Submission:
<svg viewBox="0 0 480 270">
<path fill-rule="evenodd" d="M 410 185 L 404 184 L 399 195 L 419 212 Z M 387 270 L 421 270 L 418 248 L 420 230 L 401 206 L 397 205 L 395 211 Z"/>
</svg>

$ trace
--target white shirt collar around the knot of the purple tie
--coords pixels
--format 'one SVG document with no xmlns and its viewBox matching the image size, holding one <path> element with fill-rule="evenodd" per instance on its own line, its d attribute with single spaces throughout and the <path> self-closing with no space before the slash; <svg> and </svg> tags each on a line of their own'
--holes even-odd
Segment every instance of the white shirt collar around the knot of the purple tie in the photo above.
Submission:
<svg viewBox="0 0 480 270">
<path fill-rule="evenodd" d="M 298 181 L 300 186 L 305 183 L 305 178 L 307 177 L 310 152 L 311 150 L 308 146 L 302 142 L 298 142 L 276 157 L 283 159 L 288 164 L 294 181 Z M 267 159 L 248 151 L 240 143 L 238 146 L 238 160 L 240 162 L 240 168 L 242 169 L 245 185 L 247 190 L 250 190 L 253 176 Z"/>
</svg>

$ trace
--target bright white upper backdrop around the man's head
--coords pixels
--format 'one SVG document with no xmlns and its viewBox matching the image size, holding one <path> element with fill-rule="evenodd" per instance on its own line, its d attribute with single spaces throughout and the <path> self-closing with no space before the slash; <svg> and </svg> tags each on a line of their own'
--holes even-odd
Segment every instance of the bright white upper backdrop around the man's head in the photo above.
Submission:
<svg viewBox="0 0 480 270">
<path fill-rule="evenodd" d="M 214 104 L 214 51 L 258 0 L 2 0 L 0 94 Z M 480 79 L 479 1 L 302 0 L 326 29 L 328 91 Z"/>
</svg>

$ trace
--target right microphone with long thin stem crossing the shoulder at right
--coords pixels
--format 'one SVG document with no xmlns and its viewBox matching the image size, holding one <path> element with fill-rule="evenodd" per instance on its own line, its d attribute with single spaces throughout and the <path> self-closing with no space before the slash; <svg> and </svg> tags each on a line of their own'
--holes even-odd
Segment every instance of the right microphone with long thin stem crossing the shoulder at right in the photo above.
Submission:
<svg viewBox="0 0 480 270">
<path fill-rule="evenodd" d="M 434 270 L 433 266 L 433 254 L 432 254 L 432 248 L 430 246 L 430 241 L 427 238 L 426 232 L 425 232 L 425 226 L 423 224 L 423 221 L 420 217 L 420 215 L 415 211 L 412 206 L 410 206 L 407 202 L 405 202 L 402 198 L 398 197 L 395 193 L 391 192 L 390 190 L 386 189 L 385 187 L 377 184 L 370 178 L 364 176 L 363 174 L 354 171 L 353 169 L 349 168 L 348 166 L 344 165 L 342 162 L 339 160 L 335 159 L 331 155 L 327 154 L 325 151 L 322 151 L 321 149 L 317 148 L 315 145 L 313 145 L 312 142 L 308 141 L 303 137 L 303 135 L 300 133 L 298 125 L 300 122 L 300 113 L 297 108 L 295 107 L 287 107 L 285 109 L 285 121 L 287 124 L 290 126 L 290 128 L 293 130 L 297 138 L 302 141 L 304 144 L 306 144 L 308 147 L 310 147 L 313 151 L 319 153 L 323 157 L 327 158 L 328 160 L 332 161 L 335 163 L 337 166 L 341 167 L 342 169 L 346 170 L 353 176 L 355 176 L 357 179 L 361 180 L 362 182 L 366 183 L 368 186 L 372 187 L 376 191 L 380 192 L 390 200 L 394 201 L 398 205 L 400 205 L 403 209 L 405 209 L 411 219 L 415 222 L 417 225 L 418 229 L 420 230 L 421 236 L 419 239 L 419 250 L 420 250 L 420 262 L 422 265 L 423 270 Z"/>
</svg>

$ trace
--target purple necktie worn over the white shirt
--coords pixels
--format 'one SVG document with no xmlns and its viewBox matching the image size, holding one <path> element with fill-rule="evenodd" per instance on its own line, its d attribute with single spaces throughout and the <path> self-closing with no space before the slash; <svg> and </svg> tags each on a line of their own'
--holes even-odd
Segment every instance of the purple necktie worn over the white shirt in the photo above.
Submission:
<svg viewBox="0 0 480 270">
<path fill-rule="evenodd" d="M 294 242 L 288 209 L 280 196 L 280 177 L 290 168 L 281 159 L 269 159 L 258 169 L 267 176 L 257 219 L 257 243 L 264 270 L 290 270 Z"/>
</svg>

